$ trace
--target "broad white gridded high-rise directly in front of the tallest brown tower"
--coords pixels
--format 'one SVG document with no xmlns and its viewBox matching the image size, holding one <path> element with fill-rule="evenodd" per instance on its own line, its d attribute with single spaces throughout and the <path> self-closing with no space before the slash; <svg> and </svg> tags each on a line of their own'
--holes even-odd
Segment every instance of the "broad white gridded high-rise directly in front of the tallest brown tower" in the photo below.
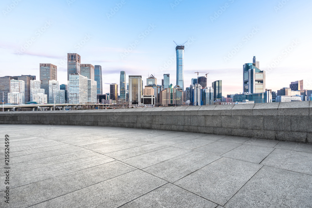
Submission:
<svg viewBox="0 0 312 208">
<path fill-rule="evenodd" d="M 88 102 L 88 78 L 80 74 L 70 74 L 68 84 L 68 103 Z"/>
</svg>

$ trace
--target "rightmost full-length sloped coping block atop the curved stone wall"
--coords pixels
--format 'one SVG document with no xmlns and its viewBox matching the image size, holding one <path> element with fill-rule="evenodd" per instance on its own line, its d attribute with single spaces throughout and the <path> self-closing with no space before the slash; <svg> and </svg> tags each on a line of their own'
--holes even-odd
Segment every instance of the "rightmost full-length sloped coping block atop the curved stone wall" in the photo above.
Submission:
<svg viewBox="0 0 312 208">
<path fill-rule="evenodd" d="M 282 102 L 278 106 L 279 116 L 308 116 L 310 101 Z"/>
</svg>

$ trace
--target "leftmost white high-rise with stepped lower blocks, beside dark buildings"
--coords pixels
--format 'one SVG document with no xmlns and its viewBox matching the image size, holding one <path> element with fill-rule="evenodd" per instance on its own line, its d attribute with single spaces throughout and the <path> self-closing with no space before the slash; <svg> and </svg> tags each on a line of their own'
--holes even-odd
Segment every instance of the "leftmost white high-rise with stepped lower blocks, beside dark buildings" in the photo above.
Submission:
<svg viewBox="0 0 312 208">
<path fill-rule="evenodd" d="M 23 80 L 10 80 L 10 92 L 7 94 L 8 103 L 25 103 L 25 82 Z"/>
</svg>

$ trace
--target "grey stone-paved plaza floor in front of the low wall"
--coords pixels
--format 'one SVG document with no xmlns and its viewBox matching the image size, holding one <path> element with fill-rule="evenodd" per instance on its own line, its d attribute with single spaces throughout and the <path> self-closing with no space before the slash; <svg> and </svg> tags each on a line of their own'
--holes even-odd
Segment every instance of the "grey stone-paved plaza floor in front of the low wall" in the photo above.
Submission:
<svg viewBox="0 0 312 208">
<path fill-rule="evenodd" d="M 99 126 L 0 129 L 0 207 L 312 207 L 312 144 Z"/>
</svg>

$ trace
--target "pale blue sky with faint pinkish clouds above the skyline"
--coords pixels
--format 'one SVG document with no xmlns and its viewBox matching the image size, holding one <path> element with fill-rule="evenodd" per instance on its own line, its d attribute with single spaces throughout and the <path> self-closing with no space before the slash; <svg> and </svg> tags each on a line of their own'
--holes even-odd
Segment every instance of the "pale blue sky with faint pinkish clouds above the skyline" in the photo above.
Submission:
<svg viewBox="0 0 312 208">
<path fill-rule="evenodd" d="M 206 72 L 207 85 L 241 93 L 242 66 L 253 56 L 276 91 L 304 80 L 312 89 L 310 0 L 2 0 L 0 76 L 36 75 L 57 65 L 67 83 L 67 53 L 101 65 L 103 93 L 126 75 L 163 74 L 176 84 L 175 47 L 185 44 L 184 87 Z M 199 74 L 204 76 L 206 73 Z"/>
</svg>

